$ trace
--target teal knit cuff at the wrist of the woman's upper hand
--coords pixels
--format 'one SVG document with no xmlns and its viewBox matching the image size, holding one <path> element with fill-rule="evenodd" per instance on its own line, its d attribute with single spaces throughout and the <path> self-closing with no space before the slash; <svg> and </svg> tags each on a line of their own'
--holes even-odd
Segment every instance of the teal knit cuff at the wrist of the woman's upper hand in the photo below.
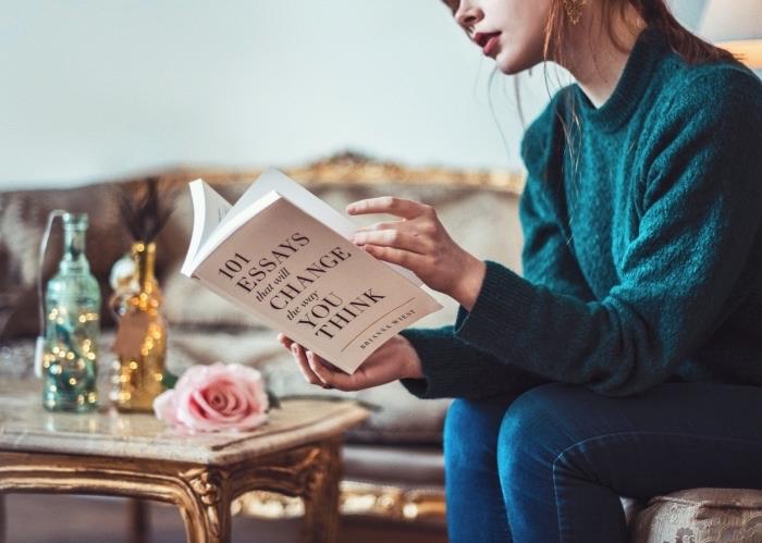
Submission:
<svg viewBox="0 0 762 543">
<path fill-rule="evenodd" d="M 514 340 L 511 343 L 520 343 L 519 335 L 526 330 L 536 293 L 530 282 L 503 264 L 492 260 L 484 263 L 487 271 L 476 303 L 470 312 L 463 306 L 458 308 L 453 333 L 480 350 L 493 353 L 495 337 L 511 337 Z"/>
</svg>

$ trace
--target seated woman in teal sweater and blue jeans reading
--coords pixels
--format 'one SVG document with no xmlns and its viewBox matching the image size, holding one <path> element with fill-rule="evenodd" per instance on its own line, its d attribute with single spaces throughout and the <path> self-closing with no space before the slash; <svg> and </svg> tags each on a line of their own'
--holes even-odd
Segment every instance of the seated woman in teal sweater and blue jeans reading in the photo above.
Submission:
<svg viewBox="0 0 762 543">
<path fill-rule="evenodd" d="M 457 246 L 430 207 L 352 214 L 372 256 L 460 305 L 347 375 L 456 397 L 444 433 L 451 541 L 626 541 L 618 496 L 762 489 L 762 83 L 663 0 L 448 0 L 505 74 L 576 84 L 526 131 L 523 276 Z M 495 233 L 500 235 L 500 233 Z"/>
</svg>

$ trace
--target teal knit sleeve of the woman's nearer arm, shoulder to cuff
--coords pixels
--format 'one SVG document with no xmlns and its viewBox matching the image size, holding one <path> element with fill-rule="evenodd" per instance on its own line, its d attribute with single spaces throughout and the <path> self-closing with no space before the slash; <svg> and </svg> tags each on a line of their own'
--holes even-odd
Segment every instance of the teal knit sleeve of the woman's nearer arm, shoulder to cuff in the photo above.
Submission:
<svg viewBox="0 0 762 543">
<path fill-rule="evenodd" d="M 586 303 L 488 261 L 471 311 L 459 308 L 457 338 L 606 395 L 666 381 L 701 346 L 732 310 L 760 232 L 762 100 L 750 77 L 724 86 L 711 108 L 703 92 L 683 90 L 653 131 L 657 152 L 638 234 L 616 263 L 619 283 Z"/>
</svg>

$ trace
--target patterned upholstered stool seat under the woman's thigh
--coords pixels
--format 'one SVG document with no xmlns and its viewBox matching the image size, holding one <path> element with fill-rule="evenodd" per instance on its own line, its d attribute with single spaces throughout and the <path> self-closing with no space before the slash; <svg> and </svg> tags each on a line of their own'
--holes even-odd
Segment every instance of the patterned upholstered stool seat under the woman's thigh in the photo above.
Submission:
<svg viewBox="0 0 762 543">
<path fill-rule="evenodd" d="M 762 490 L 691 489 L 651 498 L 630 543 L 762 543 Z"/>
</svg>

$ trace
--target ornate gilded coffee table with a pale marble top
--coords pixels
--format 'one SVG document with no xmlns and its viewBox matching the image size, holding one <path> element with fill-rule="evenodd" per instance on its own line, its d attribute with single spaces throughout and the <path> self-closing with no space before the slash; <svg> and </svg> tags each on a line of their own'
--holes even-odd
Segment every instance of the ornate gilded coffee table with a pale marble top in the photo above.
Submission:
<svg viewBox="0 0 762 543">
<path fill-rule="evenodd" d="M 231 539 L 232 501 L 265 490 L 304 499 L 303 541 L 334 541 L 342 433 L 368 416 L 355 403 L 286 400 L 253 432 L 186 435 L 152 415 L 48 412 L 39 386 L 0 383 L 0 496 L 158 499 L 180 507 L 188 542 L 217 543 Z"/>
</svg>

